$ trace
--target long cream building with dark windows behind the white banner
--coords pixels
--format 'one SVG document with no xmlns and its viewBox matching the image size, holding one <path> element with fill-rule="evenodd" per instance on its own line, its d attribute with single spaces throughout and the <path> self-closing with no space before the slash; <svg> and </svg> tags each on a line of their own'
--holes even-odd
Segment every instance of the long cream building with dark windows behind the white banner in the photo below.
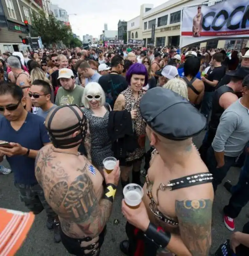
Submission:
<svg viewBox="0 0 249 256">
<path fill-rule="evenodd" d="M 180 43 L 181 10 L 190 5 L 212 5 L 225 0 L 171 0 L 157 7 L 153 4 L 143 4 L 140 15 L 127 21 L 128 39 L 140 39 L 144 46 L 156 47 L 175 46 Z M 152 26 L 155 25 L 155 36 L 152 39 Z M 209 43 L 198 43 L 200 47 L 223 48 L 225 40 L 214 40 Z M 197 46 L 197 45 L 196 45 Z"/>
</svg>

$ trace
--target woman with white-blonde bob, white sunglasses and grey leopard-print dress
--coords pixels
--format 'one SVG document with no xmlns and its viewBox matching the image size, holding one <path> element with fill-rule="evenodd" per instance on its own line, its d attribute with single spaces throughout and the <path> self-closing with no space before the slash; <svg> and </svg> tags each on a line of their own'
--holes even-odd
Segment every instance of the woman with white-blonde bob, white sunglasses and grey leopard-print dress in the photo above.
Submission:
<svg viewBox="0 0 249 256">
<path fill-rule="evenodd" d="M 91 137 L 91 145 L 88 145 L 86 151 L 92 156 L 92 164 L 103 174 L 103 160 L 113 156 L 112 143 L 107 132 L 111 108 L 106 105 L 105 92 L 96 82 L 90 82 L 85 86 L 82 102 Z"/>
</svg>

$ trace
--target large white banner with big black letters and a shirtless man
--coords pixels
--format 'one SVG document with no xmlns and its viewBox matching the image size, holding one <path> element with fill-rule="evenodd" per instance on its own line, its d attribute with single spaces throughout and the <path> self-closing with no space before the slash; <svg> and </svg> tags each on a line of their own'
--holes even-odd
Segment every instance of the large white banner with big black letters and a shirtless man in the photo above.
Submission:
<svg viewBox="0 0 249 256">
<path fill-rule="evenodd" d="M 180 47 L 210 39 L 248 36 L 249 0 L 229 0 L 183 9 Z"/>
</svg>

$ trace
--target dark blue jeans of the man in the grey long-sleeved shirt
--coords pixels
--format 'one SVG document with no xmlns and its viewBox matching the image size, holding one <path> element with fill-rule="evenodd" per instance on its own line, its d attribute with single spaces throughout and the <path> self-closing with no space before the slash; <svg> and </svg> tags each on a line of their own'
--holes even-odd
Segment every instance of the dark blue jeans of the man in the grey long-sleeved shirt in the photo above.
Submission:
<svg viewBox="0 0 249 256">
<path fill-rule="evenodd" d="M 214 192 L 216 191 L 218 185 L 221 184 L 222 180 L 225 178 L 230 167 L 235 163 L 237 157 L 224 156 L 225 164 L 221 168 L 216 168 L 217 161 L 214 154 L 214 149 L 212 146 L 208 149 L 207 152 L 207 167 L 209 172 L 213 174 L 213 188 Z"/>
</svg>

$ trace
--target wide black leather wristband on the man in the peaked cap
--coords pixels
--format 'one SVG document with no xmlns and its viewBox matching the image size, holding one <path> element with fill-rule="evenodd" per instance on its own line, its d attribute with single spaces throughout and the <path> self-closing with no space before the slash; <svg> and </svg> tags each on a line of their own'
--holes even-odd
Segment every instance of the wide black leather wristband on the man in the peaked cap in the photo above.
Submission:
<svg viewBox="0 0 249 256">
<path fill-rule="evenodd" d="M 170 241 L 171 233 L 163 231 L 163 229 L 160 227 L 157 228 L 153 223 L 150 222 L 149 227 L 144 232 L 144 236 L 148 237 L 152 242 L 161 248 L 165 248 Z"/>
</svg>

